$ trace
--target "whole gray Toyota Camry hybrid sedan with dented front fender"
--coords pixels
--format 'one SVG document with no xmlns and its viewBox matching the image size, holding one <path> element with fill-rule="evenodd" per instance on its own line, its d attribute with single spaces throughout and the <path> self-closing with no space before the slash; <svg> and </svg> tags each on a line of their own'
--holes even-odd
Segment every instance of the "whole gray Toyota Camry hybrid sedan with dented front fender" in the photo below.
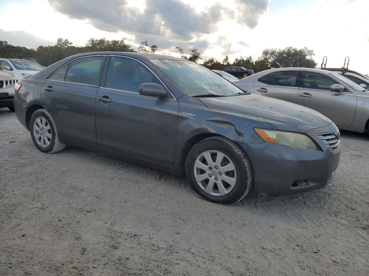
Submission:
<svg viewBox="0 0 369 276">
<path fill-rule="evenodd" d="M 216 203 L 322 188 L 340 157 L 338 128 L 322 114 L 169 56 L 70 56 L 15 84 L 14 103 L 41 152 L 73 145 L 186 174 Z"/>
</svg>

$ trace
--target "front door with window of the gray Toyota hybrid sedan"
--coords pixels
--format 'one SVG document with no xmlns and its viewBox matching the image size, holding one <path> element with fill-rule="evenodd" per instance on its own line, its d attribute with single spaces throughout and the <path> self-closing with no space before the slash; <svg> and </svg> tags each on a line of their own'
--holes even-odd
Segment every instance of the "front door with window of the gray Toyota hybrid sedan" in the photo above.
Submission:
<svg viewBox="0 0 369 276">
<path fill-rule="evenodd" d="M 96 95 L 97 146 L 172 165 L 179 103 L 176 99 L 140 95 L 141 83 L 158 78 L 128 57 L 110 58 L 105 87 Z"/>
</svg>

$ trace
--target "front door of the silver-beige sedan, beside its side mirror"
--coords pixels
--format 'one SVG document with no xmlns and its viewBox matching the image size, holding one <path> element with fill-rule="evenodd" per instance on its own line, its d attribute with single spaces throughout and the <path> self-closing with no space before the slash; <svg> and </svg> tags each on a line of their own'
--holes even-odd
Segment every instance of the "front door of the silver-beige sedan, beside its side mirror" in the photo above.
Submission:
<svg viewBox="0 0 369 276">
<path fill-rule="evenodd" d="M 333 84 L 340 83 L 324 74 L 301 71 L 297 103 L 320 112 L 339 127 L 350 127 L 356 110 L 356 96 L 347 88 L 343 94 L 337 95 L 330 89 Z"/>
</svg>

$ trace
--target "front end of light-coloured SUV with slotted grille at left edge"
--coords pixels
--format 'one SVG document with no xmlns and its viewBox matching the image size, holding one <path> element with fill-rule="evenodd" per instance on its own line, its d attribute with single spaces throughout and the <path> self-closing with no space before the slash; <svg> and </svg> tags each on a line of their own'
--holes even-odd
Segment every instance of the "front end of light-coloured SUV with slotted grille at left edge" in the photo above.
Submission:
<svg viewBox="0 0 369 276">
<path fill-rule="evenodd" d="M 0 68 L 0 108 L 8 107 L 14 112 L 14 85 L 18 77 Z"/>
</svg>

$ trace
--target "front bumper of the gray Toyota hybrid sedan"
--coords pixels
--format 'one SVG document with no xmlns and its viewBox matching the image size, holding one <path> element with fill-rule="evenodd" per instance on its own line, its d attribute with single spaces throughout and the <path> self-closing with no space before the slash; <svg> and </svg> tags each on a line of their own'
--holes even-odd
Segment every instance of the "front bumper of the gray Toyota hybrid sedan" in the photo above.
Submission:
<svg viewBox="0 0 369 276">
<path fill-rule="evenodd" d="M 325 187 L 334 177 L 341 150 L 336 153 L 317 134 L 335 132 L 335 125 L 316 128 L 308 134 L 321 150 L 299 149 L 269 142 L 240 143 L 254 169 L 254 193 L 269 196 L 293 195 Z"/>
</svg>

